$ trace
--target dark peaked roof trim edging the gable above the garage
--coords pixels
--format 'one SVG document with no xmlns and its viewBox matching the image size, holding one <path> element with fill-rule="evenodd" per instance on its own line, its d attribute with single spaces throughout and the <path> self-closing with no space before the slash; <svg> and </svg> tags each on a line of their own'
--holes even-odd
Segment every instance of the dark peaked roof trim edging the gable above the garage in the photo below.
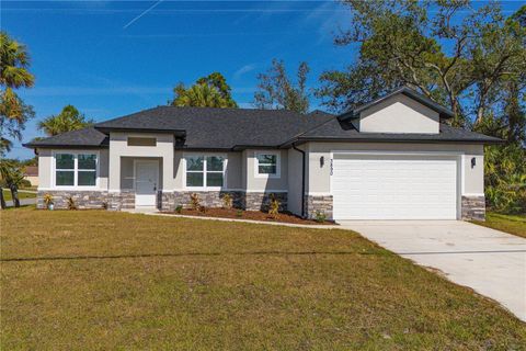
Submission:
<svg viewBox="0 0 526 351">
<path fill-rule="evenodd" d="M 436 103 L 435 101 L 431 100 L 430 98 L 421 94 L 420 92 L 418 92 L 418 91 L 415 91 L 411 88 L 402 87 L 402 88 L 396 89 L 395 91 L 392 91 L 392 92 L 390 92 L 390 93 L 388 93 L 384 97 L 380 97 L 376 100 L 373 100 L 369 103 L 363 104 L 363 105 L 361 105 L 361 106 L 358 106 L 354 110 L 344 112 L 341 115 L 339 115 L 338 118 L 340 121 L 358 118 L 359 113 L 362 111 L 370 109 L 374 105 L 377 105 L 377 104 L 381 103 L 382 101 L 386 101 L 387 99 L 390 99 L 390 98 L 392 98 L 395 95 L 398 95 L 398 94 L 404 94 L 404 95 L 407 95 L 407 97 L 409 97 L 413 100 L 416 100 L 418 102 L 420 102 L 421 104 L 430 107 L 431 110 L 434 110 L 434 111 L 438 112 L 441 118 L 450 118 L 450 117 L 455 116 L 455 114 L 453 113 L 451 110 L 449 110 L 447 107 L 444 107 L 443 105 Z"/>
</svg>

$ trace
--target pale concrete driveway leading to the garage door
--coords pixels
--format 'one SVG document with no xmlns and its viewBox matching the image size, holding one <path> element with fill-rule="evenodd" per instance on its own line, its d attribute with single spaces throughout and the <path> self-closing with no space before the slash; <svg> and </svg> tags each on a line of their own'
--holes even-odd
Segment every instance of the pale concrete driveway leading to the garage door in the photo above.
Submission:
<svg viewBox="0 0 526 351">
<path fill-rule="evenodd" d="M 526 239 L 459 220 L 348 220 L 344 228 L 491 297 L 526 321 Z"/>
</svg>

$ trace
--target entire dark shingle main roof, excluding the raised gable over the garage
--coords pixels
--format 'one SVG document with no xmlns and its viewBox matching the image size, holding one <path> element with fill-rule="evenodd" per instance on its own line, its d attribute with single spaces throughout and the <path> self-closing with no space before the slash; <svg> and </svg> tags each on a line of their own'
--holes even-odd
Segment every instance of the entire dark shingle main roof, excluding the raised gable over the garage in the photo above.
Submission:
<svg viewBox="0 0 526 351">
<path fill-rule="evenodd" d="M 359 133 L 334 115 L 315 111 L 159 106 L 25 144 L 27 147 L 107 147 L 111 131 L 185 135 L 184 148 L 288 147 L 308 140 L 499 143 L 500 139 L 441 124 L 439 134 Z"/>
</svg>

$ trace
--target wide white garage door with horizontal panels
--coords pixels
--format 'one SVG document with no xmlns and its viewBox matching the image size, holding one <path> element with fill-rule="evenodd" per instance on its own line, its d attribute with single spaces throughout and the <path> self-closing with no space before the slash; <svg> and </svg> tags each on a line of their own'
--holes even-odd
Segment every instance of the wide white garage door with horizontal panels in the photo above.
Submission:
<svg viewBox="0 0 526 351">
<path fill-rule="evenodd" d="M 456 219 L 454 158 L 336 155 L 334 219 Z"/>
</svg>

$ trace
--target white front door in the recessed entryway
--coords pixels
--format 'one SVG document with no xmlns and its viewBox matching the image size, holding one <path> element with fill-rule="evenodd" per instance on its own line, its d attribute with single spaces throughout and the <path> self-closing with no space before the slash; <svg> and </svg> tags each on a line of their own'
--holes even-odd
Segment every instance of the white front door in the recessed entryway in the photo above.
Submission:
<svg viewBox="0 0 526 351">
<path fill-rule="evenodd" d="M 158 161 L 135 162 L 135 207 L 156 207 L 158 183 Z"/>
</svg>

